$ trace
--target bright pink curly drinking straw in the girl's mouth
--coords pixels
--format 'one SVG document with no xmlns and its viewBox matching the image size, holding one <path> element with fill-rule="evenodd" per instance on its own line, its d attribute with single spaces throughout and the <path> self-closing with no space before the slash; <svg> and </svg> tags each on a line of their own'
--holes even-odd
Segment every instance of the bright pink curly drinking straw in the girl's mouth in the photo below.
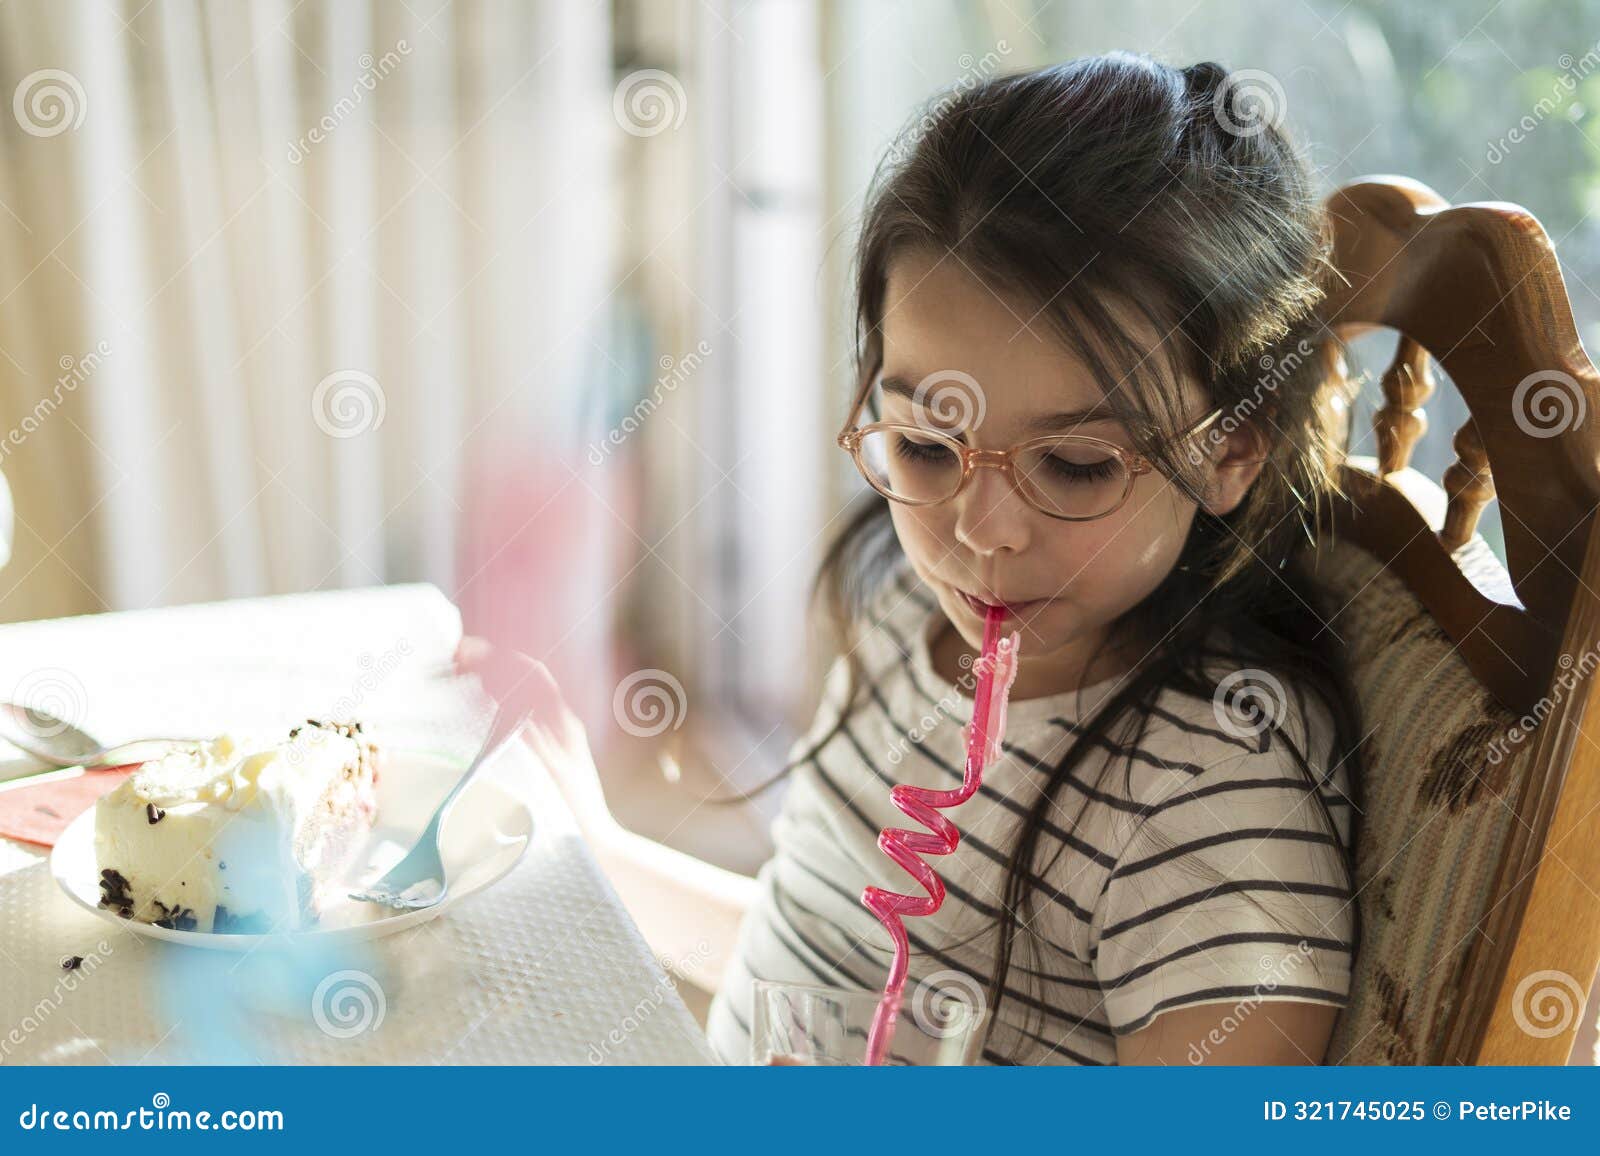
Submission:
<svg viewBox="0 0 1600 1156">
<path fill-rule="evenodd" d="M 922 855 L 949 855 L 962 841 L 962 833 L 939 810 L 958 807 L 971 799 L 982 783 L 984 767 L 1000 753 L 1005 735 L 1005 706 L 1016 680 L 1016 656 L 1022 644 L 1019 634 L 1000 637 L 1005 607 L 990 605 L 984 618 L 984 650 L 978 660 L 978 688 L 973 693 L 973 724 L 966 733 L 966 773 L 955 791 L 930 791 L 909 783 L 898 783 L 890 791 L 893 802 L 907 818 L 922 823 L 926 831 L 888 828 L 878 834 L 878 847 L 891 860 L 906 868 L 928 893 L 899 895 L 882 887 L 867 887 L 861 901 L 888 929 L 894 941 L 894 959 L 890 964 L 883 999 L 872 1017 L 867 1034 L 867 1063 L 883 1063 L 894 1023 L 899 1020 L 901 994 L 906 989 L 907 957 L 910 945 L 906 940 L 904 916 L 931 916 L 944 905 L 944 881 L 923 861 Z M 992 735 L 992 738 L 990 738 Z"/>
</svg>

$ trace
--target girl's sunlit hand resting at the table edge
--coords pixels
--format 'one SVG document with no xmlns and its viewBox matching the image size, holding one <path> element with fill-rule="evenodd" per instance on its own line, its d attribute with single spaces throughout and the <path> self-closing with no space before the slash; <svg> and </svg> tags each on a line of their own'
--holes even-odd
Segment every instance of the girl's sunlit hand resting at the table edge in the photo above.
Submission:
<svg viewBox="0 0 1600 1156">
<path fill-rule="evenodd" d="M 549 668 L 518 650 L 494 647 L 478 637 L 461 640 L 454 664 L 462 674 L 477 674 L 498 703 L 526 712 L 522 733 L 584 834 L 600 834 L 614 826 L 584 724 L 562 698 Z"/>
</svg>

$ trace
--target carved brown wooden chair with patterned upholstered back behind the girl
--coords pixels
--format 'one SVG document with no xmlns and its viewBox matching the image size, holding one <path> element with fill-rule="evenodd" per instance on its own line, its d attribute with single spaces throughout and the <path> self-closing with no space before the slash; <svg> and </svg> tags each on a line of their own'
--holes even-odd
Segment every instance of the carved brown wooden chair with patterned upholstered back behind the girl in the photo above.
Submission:
<svg viewBox="0 0 1600 1156">
<path fill-rule="evenodd" d="M 1376 176 L 1328 211 L 1323 320 L 1400 333 L 1312 559 L 1371 732 L 1328 1063 L 1566 1063 L 1600 964 L 1600 376 L 1526 210 Z M 1470 411 L 1443 488 L 1408 468 L 1435 360 Z"/>
</svg>

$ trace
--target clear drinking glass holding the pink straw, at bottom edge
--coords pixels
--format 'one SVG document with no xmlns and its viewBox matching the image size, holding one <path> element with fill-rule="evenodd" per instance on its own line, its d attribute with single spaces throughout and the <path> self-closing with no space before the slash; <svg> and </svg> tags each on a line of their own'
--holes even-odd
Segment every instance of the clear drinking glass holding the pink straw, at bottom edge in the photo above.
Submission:
<svg viewBox="0 0 1600 1156">
<path fill-rule="evenodd" d="M 851 1066 L 867 1062 L 867 1033 L 882 993 L 755 981 L 750 1063 Z M 907 989 L 886 1065 L 978 1063 L 989 1012 L 949 991 Z"/>
</svg>

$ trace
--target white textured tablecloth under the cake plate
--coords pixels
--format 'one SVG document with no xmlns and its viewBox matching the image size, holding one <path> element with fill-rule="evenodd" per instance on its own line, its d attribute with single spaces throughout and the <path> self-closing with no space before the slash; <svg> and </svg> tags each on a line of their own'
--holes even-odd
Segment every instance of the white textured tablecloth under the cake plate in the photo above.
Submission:
<svg viewBox="0 0 1600 1156">
<path fill-rule="evenodd" d="M 56 704 L 102 741 L 357 717 L 464 762 L 486 703 L 427 677 L 459 634 L 432 586 L 22 623 L 0 628 L 0 698 Z M 0 756 L 0 780 L 35 767 Z M 533 807 L 517 869 L 338 954 L 134 935 L 61 895 L 38 847 L 0 839 L 0 1063 L 714 1063 L 526 748 L 485 775 Z"/>
</svg>

